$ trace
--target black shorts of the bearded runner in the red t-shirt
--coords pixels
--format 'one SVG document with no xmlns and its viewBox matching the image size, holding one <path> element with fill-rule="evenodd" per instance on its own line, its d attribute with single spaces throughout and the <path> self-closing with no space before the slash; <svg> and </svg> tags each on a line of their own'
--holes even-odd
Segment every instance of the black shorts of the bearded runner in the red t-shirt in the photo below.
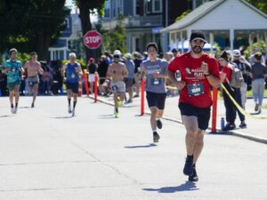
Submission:
<svg viewBox="0 0 267 200">
<path fill-rule="evenodd" d="M 182 116 L 197 116 L 198 128 L 206 130 L 210 118 L 210 108 L 198 108 L 188 103 L 179 103 L 179 108 Z"/>
</svg>

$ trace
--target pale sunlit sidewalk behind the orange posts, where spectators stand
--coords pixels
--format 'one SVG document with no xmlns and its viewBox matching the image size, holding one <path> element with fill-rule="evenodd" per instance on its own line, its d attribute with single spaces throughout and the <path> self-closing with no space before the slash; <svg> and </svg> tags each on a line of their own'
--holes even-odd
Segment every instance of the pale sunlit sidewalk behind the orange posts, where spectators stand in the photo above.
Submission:
<svg viewBox="0 0 267 200">
<path fill-rule="evenodd" d="M 167 97 L 164 118 L 168 120 L 173 120 L 175 122 L 182 124 L 181 113 L 178 108 L 178 99 L 179 99 L 179 96 Z M 99 96 L 98 100 L 105 102 L 105 103 L 109 103 L 110 105 L 113 105 L 113 97 Z M 263 105 L 265 105 L 266 103 L 267 103 L 266 100 L 263 100 Z M 140 115 L 141 113 L 140 105 L 141 105 L 141 98 L 134 98 L 134 102 L 132 104 L 129 104 L 126 107 L 135 109 L 136 114 Z M 250 114 L 255 113 L 254 108 L 255 108 L 254 101 L 252 99 L 247 99 L 247 104 L 246 104 L 247 113 L 250 113 Z M 150 114 L 150 110 L 147 106 L 146 100 L 145 100 L 145 113 Z M 260 115 L 254 115 L 254 116 L 255 117 L 267 116 L 267 109 L 263 108 L 262 113 Z M 227 134 L 232 134 L 232 135 L 236 135 L 242 138 L 247 138 L 248 140 L 255 140 L 255 141 L 267 144 L 267 119 L 257 119 L 254 116 L 246 116 L 247 128 L 239 129 L 240 120 L 237 114 L 237 119 L 235 122 L 237 125 L 237 129 L 233 130 L 232 132 L 227 132 Z M 221 129 L 221 118 L 222 117 L 225 118 L 225 108 L 223 105 L 223 100 L 218 100 L 217 120 L 216 120 L 217 121 L 216 127 L 218 130 L 218 133 L 220 132 L 220 129 Z M 209 128 L 211 128 L 211 120 L 209 123 Z M 226 134 L 226 132 L 220 132 L 220 134 Z"/>
</svg>

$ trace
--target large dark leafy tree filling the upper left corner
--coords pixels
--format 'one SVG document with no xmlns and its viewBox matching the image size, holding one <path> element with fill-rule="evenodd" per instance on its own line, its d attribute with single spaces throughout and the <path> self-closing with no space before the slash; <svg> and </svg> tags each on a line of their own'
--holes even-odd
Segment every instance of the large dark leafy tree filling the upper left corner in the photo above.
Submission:
<svg viewBox="0 0 267 200">
<path fill-rule="evenodd" d="M 0 0 L 0 51 L 16 47 L 48 59 L 67 14 L 65 0 Z"/>
</svg>

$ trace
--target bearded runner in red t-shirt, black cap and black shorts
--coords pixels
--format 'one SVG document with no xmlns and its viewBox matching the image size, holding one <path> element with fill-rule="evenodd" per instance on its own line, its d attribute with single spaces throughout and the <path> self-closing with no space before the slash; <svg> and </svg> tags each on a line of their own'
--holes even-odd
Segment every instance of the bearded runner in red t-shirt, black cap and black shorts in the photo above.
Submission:
<svg viewBox="0 0 267 200">
<path fill-rule="evenodd" d="M 213 104 L 210 87 L 221 84 L 218 63 L 203 52 L 205 44 L 202 32 L 191 33 L 190 52 L 174 58 L 167 70 L 169 78 L 180 91 L 179 108 L 186 130 L 187 150 L 183 173 L 189 176 L 190 181 L 198 181 L 196 163 L 204 146 Z"/>
</svg>

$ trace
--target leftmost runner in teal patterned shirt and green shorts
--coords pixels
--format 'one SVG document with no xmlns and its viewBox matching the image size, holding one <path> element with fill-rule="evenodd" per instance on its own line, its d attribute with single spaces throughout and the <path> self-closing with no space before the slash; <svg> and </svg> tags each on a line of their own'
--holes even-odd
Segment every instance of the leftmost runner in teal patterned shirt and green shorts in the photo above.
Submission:
<svg viewBox="0 0 267 200">
<path fill-rule="evenodd" d="M 20 100 L 20 81 L 23 75 L 23 68 L 20 60 L 17 60 L 18 51 L 12 48 L 9 51 L 10 60 L 7 60 L 2 67 L 3 73 L 7 75 L 7 87 L 11 103 L 12 114 L 16 114 Z M 15 97 L 15 107 L 13 104 Z"/>
</svg>

